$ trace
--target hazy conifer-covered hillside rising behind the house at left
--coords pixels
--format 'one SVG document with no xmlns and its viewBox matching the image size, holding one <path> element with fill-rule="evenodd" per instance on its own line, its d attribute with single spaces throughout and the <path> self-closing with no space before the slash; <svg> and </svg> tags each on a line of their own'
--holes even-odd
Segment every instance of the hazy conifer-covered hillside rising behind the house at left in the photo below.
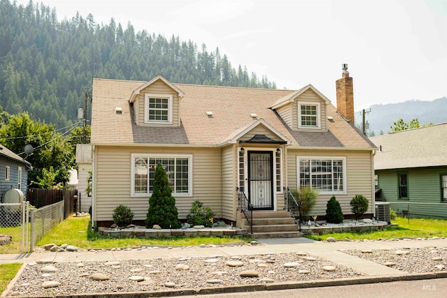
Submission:
<svg viewBox="0 0 447 298">
<path fill-rule="evenodd" d="M 131 23 L 124 28 L 113 19 L 96 24 L 91 14 L 58 20 L 42 3 L 0 0 L 0 106 L 10 114 L 25 111 L 57 128 L 72 126 L 93 77 L 148 81 L 156 75 L 174 83 L 276 88 L 264 75 L 232 66 L 219 48 L 135 32 Z"/>
</svg>

